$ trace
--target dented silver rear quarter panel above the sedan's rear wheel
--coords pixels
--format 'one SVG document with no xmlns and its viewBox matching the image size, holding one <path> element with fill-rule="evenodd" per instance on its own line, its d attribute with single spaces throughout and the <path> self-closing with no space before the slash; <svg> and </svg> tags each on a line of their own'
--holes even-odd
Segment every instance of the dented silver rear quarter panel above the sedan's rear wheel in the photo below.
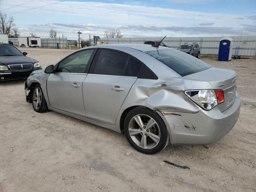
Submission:
<svg viewBox="0 0 256 192">
<path fill-rule="evenodd" d="M 184 90 L 209 88 L 212 86 L 208 82 L 199 84 L 198 81 L 184 80 L 182 77 L 164 80 L 137 79 L 120 109 L 120 114 L 131 106 L 145 106 L 156 111 L 164 120 L 172 142 L 171 134 L 175 125 L 181 126 L 185 132 L 196 131 L 196 126 L 188 122 L 182 114 L 195 114 L 202 110 L 184 94 Z"/>
</svg>

